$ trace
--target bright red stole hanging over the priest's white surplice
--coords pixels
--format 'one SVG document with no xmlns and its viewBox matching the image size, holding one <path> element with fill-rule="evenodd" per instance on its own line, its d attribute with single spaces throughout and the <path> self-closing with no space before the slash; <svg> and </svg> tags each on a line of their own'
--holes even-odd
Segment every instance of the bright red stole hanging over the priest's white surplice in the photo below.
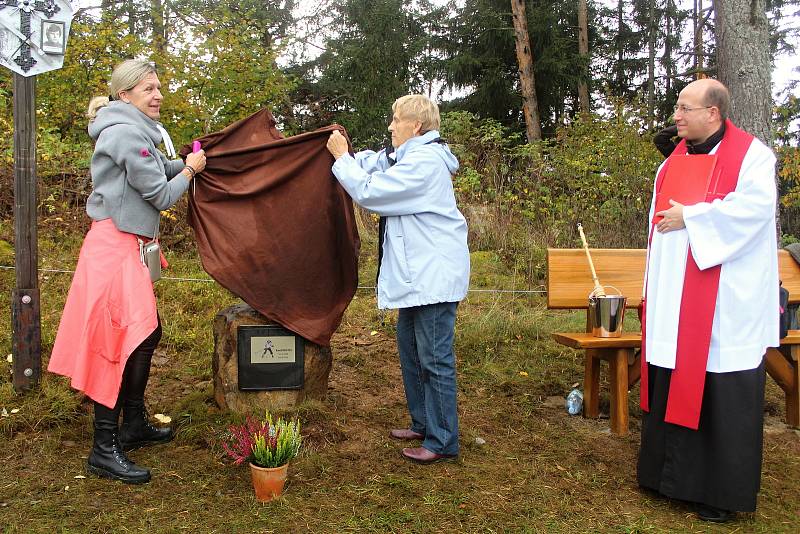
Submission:
<svg viewBox="0 0 800 534">
<path fill-rule="evenodd" d="M 712 180 L 706 193 L 706 202 L 724 198 L 736 189 L 739 171 L 747 154 L 753 136 L 738 129 L 730 120 L 725 121 L 725 135 L 717 149 L 715 174 L 719 180 Z M 672 153 L 682 156 L 687 152 L 686 141 L 682 140 Z M 670 159 L 672 156 L 670 156 Z M 661 169 L 656 179 L 656 194 L 661 189 L 670 159 Z M 715 187 L 716 185 L 716 187 Z M 655 232 L 655 222 L 651 222 L 650 239 Z M 700 423 L 700 407 L 703 403 L 708 349 L 711 345 L 711 329 L 714 323 L 714 309 L 719 290 L 721 265 L 703 271 L 697 266 L 689 246 L 686 258 L 686 273 L 683 279 L 683 294 L 678 320 L 678 343 L 675 356 L 675 369 L 670 379 L 667 396 L 667 411 L 664 421 L 697 430 Z M 645 335 L 647 333 L 647 298 L 642 313 L 642 376 L 640 404 L 642 410 L 650 411 L 648 395 L 647 360 L 645 358 Z"/>
</svg>

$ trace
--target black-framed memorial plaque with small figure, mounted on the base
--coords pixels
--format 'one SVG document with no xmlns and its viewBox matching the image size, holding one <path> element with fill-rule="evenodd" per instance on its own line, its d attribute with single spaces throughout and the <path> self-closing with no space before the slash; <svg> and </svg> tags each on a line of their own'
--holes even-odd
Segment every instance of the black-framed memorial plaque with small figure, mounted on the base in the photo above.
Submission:
<svg viewBox="0 0 800 534">
<path fill-rule="evenodd" d="M 305 340 L 279 325 L 242 325 L 237 330 L 239 389 L 303 387 Z"/>
</svg>

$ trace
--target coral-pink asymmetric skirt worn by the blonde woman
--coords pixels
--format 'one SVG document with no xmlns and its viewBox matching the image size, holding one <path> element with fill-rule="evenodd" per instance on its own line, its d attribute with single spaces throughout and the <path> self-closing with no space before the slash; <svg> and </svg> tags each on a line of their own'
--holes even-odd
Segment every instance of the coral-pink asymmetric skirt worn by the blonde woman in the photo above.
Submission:
<svg viewBox="0 0 800 534">
<path fill-rule="evenodd" d="M 109 408 L 131 353 L 158 326 L 156 298 L 133 234 L 111 219 L 86 234 L 47 370 Z"/>
</svg>

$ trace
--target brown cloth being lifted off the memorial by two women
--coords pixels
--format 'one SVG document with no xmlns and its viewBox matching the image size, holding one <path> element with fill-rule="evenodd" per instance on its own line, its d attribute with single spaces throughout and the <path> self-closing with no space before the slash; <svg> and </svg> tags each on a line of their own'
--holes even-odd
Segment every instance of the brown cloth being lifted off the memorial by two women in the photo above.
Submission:
<svg viewBox="0 0 800 534">
<path fill-rule="evenodd" d="M 336 129 L 284 138 L 272 114 L 259 111 L 199 139 L 207 165 L 189 189 L 189 224 L 206 272 L 324 346 L 358 284 L 353 203 L 325 147 Z M 186 145 L 180 154 L 190 151 Z"/>
</svg>

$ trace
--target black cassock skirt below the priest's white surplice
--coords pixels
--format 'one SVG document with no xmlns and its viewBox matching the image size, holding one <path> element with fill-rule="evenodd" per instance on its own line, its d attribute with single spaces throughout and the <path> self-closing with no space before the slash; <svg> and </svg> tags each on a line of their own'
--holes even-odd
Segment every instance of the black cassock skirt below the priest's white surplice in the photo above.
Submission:
<svg viewBox="0 0 800 534">
<path fill-rule="evenodd" d="M 671 369 L 648 365 L 650 412 L 643 414 L 639 485 L 666 497 L 753 512 L 761 485 L 764 362 L 706 373 L 697 430 L 664 422 Z"/>
</svg>

